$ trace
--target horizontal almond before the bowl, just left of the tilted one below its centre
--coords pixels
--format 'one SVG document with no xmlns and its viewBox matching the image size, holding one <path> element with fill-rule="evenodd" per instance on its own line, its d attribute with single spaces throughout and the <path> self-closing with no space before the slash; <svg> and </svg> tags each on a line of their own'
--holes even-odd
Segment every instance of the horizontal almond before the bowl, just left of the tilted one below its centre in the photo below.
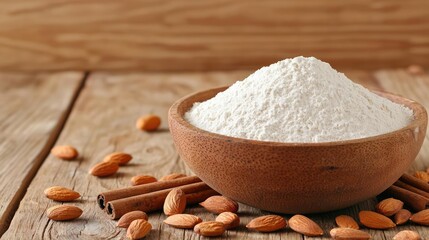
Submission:
<svg viewBox="0 0 429 240">
<path fill-rule="evenodd" d="M 274 232 L 285 228 L 286 220 L 278 215 L 265 215 L 252 219 L 246 227 L 259 232 Z"/>
</svg>

